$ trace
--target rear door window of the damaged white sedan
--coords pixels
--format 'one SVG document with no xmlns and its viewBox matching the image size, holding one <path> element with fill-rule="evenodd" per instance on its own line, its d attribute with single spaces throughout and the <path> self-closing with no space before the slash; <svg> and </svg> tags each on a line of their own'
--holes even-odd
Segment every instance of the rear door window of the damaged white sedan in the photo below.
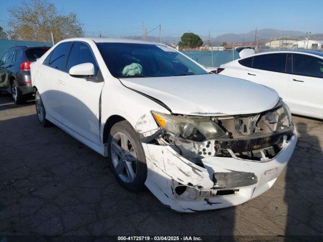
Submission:
<svg viewBox="0 0 323 242">
<path fill-rule="evenodd" d="M 59 44 L 52 53 L 48 56 L 48 63 L 45 63 L 52 68 L 65 71 L 66 59 L 69 54 L 72 42 Z"/>
</svg>

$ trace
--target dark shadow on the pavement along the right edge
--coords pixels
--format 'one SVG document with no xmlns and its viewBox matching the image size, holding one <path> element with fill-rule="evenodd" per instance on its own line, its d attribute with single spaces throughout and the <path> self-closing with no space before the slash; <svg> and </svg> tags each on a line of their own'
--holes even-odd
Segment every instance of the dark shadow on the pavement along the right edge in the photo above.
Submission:
<svg viewBox="0 0 323 242">
<path fill-rule="evenodd" d="M 323 132 L 315 120 L 302 117 L 297 120 L 300 120 L 295 123 L 298 142 L 286 169 L 285 203 L 288 212 L 285 241 L 314 241 L 315 237 L 311 235 L 323 233 L 323 154 L 316 136 Z"/>
</svg>

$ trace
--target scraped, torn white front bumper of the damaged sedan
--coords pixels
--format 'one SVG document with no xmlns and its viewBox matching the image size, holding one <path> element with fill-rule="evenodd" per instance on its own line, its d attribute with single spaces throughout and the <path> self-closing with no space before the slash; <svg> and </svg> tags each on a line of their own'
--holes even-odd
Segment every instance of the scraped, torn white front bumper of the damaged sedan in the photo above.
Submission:
<svg viewBox="0 0 323 242">
<path fill-rule="evenodd" d="M 142 143 L 147 162 L 147 188 L 166 206 L 196 212 L 235 206 L 270 189 L 287 165 L 296 145 L 294 128 L 273 158 L 259 161 L 208 156 L 201 164 L 186 159 L 170 145 Z"/>
</svg>

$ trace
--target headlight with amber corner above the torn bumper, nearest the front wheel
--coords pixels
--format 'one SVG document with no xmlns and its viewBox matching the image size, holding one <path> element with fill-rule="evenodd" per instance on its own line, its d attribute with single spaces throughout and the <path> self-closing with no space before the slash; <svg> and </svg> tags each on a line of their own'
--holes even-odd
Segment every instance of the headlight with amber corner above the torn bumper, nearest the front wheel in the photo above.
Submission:
<svg viewBox="0 0 323 242">
<path fill-rule="evenodd" d="M 203 141 L 226 134 L 209 118 L 184 117 L 181 115 L 169 115 L 153 111 L 152 115 L 161 128 L 184 139 Z"/>
</svg>

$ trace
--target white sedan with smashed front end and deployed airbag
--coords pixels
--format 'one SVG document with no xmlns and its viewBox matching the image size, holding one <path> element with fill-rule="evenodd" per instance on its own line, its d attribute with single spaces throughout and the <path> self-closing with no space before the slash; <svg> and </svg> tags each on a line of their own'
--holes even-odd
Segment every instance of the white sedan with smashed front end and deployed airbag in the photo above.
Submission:
<svg viewBox="0 0 323 242">
<path fill-rule="evenodd" d="M 181 212 L 246 202 L 270 189 L 297 133 L 277 92 L 209 74 L 164 44 L 57 43 L 31 64 L 41 126 L 105 156 L 120 185 L 144 185 Z"/>
</svg>

